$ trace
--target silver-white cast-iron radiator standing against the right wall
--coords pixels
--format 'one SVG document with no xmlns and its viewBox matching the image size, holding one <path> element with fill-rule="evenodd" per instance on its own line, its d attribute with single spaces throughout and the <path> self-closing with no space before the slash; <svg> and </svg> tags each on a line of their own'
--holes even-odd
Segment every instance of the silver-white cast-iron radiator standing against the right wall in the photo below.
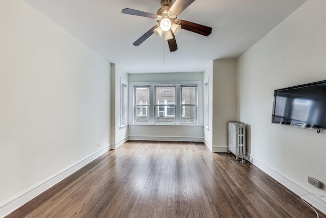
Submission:
<svg viewBox="0 0 326 218">
<path fill-rule="evenodd" d="M 246 158 L 246 124 L 229 122 L 229 153 L 235 155 L 235 159 L 244 162 Z"/>
</svg>

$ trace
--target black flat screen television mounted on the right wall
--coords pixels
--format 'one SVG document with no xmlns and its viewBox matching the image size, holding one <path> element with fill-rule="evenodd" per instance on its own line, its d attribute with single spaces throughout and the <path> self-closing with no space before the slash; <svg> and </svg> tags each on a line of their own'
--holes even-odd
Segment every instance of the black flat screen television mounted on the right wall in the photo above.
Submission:
<svg viewBox="0 0 326 218">
<path fill-rule="evenodd" d="M 326 80 L 275 90 L 271 123 L 326 130 Z"/>
</svg>

